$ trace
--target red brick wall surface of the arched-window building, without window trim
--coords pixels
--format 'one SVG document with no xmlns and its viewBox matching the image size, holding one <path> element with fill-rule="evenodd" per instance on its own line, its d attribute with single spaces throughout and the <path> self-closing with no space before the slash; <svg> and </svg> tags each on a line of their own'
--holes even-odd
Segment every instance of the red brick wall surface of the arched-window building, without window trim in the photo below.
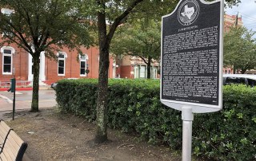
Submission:
<svg viewBox="0 0 256 161">
<path fill-rule="evenodd" d="M 28 80 L 28 61 L 29 53 L 24 49 L 19 49 L 17 45 L 9 45 L 15 49 L 15 54 L 13 55 L 13 67 L 15 68 L 14 75 L 2 75 L 2 53 L 0 53 L 0 81 L 10 81 L 10 78 L 16 77 L 17 80 Z M 2 46 L 0 46 L 2 48 Z M 63 78 L 77 77 L 77 78 L 97 78 L 98 77 L 98 67 L 99 67 L 99 52 L 97 47 L 91 47 L 86 49 L 81 48 L 82 53 L 88 56 L 88 69 L 90 73 L 86 77 L 80 76 L 80 61 L 78 60 L 77 51 L 69 51 L 69 49 L 64 48 L 62 52 L 66 52 L 67 57 L 65 59 L 65 76 L 58 76 L 58 61 L 54 61 L 53 58 L 46 58 L 45 60 L 45 75 L 46 83 L 50 84 L 52 82 L 61 80 Z M 56 52 L 57 54 L 57 52 Z M 110 69 L 109 77 L 113 77 L 113 59 L 110 58 Z"/>
</svg>

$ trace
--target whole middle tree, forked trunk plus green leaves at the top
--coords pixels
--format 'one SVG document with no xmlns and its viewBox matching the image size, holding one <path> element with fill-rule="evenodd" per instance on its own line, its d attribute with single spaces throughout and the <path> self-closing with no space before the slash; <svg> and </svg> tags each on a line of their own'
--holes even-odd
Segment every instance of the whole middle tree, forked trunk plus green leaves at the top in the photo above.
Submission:
<svg viewBox="0 0 256 161">
<path fill-rule="evenodd" d="M 238 2 L 239 0 L 228 0 Z M 174 10 L 178 0 L 74 0 L 81 17 L 90 18 L 98 32 L 100 55 L 96 143 L 106 141 L 107 84 L 110 46 L 118 26 L 133 18 L 161 18 Z M 82 7 L 81 7 L 82 6 Z M 159 13 L 161 15 L 159 15 Z M 165 13 L 165 14 L 163 14 Z M 159 16 L 158 16 L 159 15 Z"/>
</svg>

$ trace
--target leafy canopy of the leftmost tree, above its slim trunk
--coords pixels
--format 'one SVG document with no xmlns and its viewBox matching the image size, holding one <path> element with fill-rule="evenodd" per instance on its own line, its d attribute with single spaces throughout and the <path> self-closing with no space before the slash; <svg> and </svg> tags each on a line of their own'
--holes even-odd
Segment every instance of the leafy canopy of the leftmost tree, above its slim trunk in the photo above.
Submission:
<svg viewBox="0 0 256 161">
<path fill-rule="evenodd" d="M 74 49 L 91 43 L 88 24 L 79 22 L 71 1 L 1 0 L 0 6 L 10 10 L 0 14 L 2 44 L 16 43 L 32 56 L 47 51 L 46 57 L 54 57 L 63 46 Z"/>
</svg>

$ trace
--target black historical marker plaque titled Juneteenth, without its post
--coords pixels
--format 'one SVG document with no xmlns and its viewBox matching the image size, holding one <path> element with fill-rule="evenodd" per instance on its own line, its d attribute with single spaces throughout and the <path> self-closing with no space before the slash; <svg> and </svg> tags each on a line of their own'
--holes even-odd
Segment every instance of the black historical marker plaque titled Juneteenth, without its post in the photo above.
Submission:
<svg viewBox="0 0 256 161">
<path fill-rule="evenodd" d="M 170 108 L 222 108 L 222 2 L 182 0 L 162 17 L 161 101 Z"/>
</svg>

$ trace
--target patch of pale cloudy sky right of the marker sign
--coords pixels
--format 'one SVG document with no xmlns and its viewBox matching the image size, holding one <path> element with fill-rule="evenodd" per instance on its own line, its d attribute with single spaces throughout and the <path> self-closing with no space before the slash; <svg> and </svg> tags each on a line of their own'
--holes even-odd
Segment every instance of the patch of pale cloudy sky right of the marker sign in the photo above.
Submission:
<svg viewBox="0 0 256 161">
<path fill-rule="evenodd" d="M 256 0 L 241 0 L 238 6 L 225 9 L 226 14 L 242 16 L 243 25 L 256 31 Z"/>
</svg>

